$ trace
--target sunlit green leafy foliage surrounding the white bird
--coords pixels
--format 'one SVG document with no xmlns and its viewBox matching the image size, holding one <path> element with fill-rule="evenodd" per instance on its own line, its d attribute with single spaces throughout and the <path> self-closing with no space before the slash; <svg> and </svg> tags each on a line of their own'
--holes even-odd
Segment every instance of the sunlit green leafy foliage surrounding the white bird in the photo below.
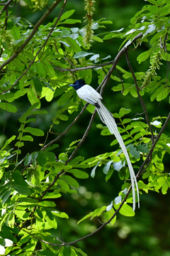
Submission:
<svg viewBox="0 0 170 256">
<path fill-rule="evenodd" d="M 34 11 L 43 9 L 46 4 L 45 1 L 25 2 Z M 33 26 L 23 17 L 14 17 L 12 12 L 6 14 L 3 5 L 0 6 L 0 108 L 4 112 L 18 114 L 18 132 L 13 131 L 13 136 L 6 139 L 0 150 L 1 255 L 86 255 L 80 248 L 72 246 L 71 241 L 64 242 L 58 225 L 62 218 L 65 223 L 69 221 L 69 215 L 60 211 L 57 201 L 64 195 L 67 195 L 67 201 L 79 196 L 81 179 L 89 178 L 86 169 L 91 169 L 94 182 L 97 171 L 102 166 L 107 183 L 116 171 L 124 183 L 109 206 L 105 202 L 106 205 L 84 213 L 85 216 L 80 217 L 78 223 L 83 220 L 91 223 L 91 220 L 101 218 L 114 225 L 118 218 L 117 210 L 126 217 L 135 215 L 131 207 L 128 166 L 123 151 L 116 145 L 116 139 L 103 154 L 95 155 L 89 150 L 88 159 L 75 156 L 88 135 L 89 129 L 86 127 L 84 137 L 72 139 L 72 143 L 68 143 L 64 151 L 56 143 L 64 138 L 81 114 L 84 114 L 85 107 L 81 114 L 77 114 L 81 100 L 68 86 L 77 78 L 90 83 L 96 75 L 98 84 L 101 84 L 104 78 L 111 77 L 114 81 L 113 92 L 123 91 L 123 95 L 129 94 L 135 100 L 149 95 L 151 104 L 155 100 L 169 100 L 169 79 L 164 73 L 159 73 L 159 68 L 169 61 L 170 4 L 166 0 L 150 0 L 149 3 L 131 18 L 128 32 L 120 29 L 96 35 L 95 30 L 104 28 L 103 24 L 111 21 L 93 21 L 91 16 L 94 1 L 86 1 L 89 25 L 85 28 L 77 27 L 77 23 L 81 21 L 72 18 L 74 10 L 58 14 L 58 18 L 45 25 L 38 21 Z M 142 36 L 139 36 L 140 33 Z M 133 41 L 135 36 L 139 38 Z M 132 47 L 132 42 L 136 44 L 135 48 L 147 43 L 149 50 L 137 56 L 139 64 L 149 60 L 147 71 L 142 68 L 135 73 L 128 68 L 125 70 L 117 65 L 117 58 L 116 69 L 120 77 L 116 77 L 111 73 L 113 70 L 110 70 L 114 62 L 106 63 L 111 55 L 101 58 L 99 53 L 86 51 L 92 41 L 107 47 L 106 40 L 116 38 L 124 39 L 121 47 L 124 46 L 126 52 Z M 121 51 L 118 54 L 120 53 Z M 18 110 L 20 100 L 27 102 L 22 110 Z M 43 107 L 44 101 L 57 102 L 55 114 L 48 120 L 46 135 L 38 123 L 38 118 L 43 118 L 48 113 Z M 139 104 L 139 101 L 136 102 Z M 169 117 L 157 117 L 156 114 L 148 120 L 145 103 L 142 108 L 145 118 L 125 117 L 126 114 L 129 117 L 131 112 L 125 107 L 120 108 L 113 116 L 118 120 L 118 129 L 132 165 L 139 171 L 140 193 L 162 191 L 166 194 L 170 178 L 164 168 L 164 156 L 170 153 L 170 139 L 162 127 L 166 127 Z M 91 106 L 87 110 L 94 112 Z M 61 127 L 62 132 L 58 132 Z M 97 128 L 101 129 L 101 139 L 111 135 L 102 124 L 98 124 Z M 153 132 L 155 128 L 156 131 Z M 57 136 L 50 139 L 50 134 L 55 134 L 53 131 L 56 130 Z M 31 146 L 35 139 L 38 139 L 36 146 Z"/>
</svg>

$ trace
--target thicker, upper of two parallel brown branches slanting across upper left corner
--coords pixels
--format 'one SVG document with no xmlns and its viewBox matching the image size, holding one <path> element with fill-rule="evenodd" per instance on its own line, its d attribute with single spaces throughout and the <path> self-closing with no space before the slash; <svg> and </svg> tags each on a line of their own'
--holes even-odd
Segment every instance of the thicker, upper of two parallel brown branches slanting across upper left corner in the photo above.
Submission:
<svg viewBox="0 0 170 256">
<path fill-rule="evenodd" d="M 55 7 L 60 4 L 60 1 L 62 0 L 57 0 L 55 1 L 52 6 L 50 6 L 47 11 L 45 12 L 45 14 L 40 18 L 40 20 L 35 24 L 33 31 L 31 31 L 30 35 L 28 36 L 28 38 L 26 38 L 26 40 L 23 42 L 23 44 L 20 46 L 20 48 L 18 48 L 18 50 L 16 50 L 15 53 L 13 53 L 13 55 L 11 55 L 10 58 L 8 58 L 8 60 L 4 61 L 4 63 L 2 63 L 2 65 L 0 66 L 0 70 L 2 70 L 2 68 L 4 68 L 6 65 L 8 65 L 8 63 L 11 63 L 12 60 L 14 60 L 19 53 L 21 53 L 21 51 L 26 47 L 26 45 L 29 43 L 29 41 L 33 38 L 33 36 L 35 35 L 35 33 L 38 31 L 39 26 L 42 24 L 43 21 L 45 21 L 45 19 L 47 18 L 47 16 L 49 16 L 49 14 L 55 9 Z M 11 0 L 9 0 L 8 2 L 11 2 Z M 5 7 L 5 6 L 4 6 Z"/>
</svg>

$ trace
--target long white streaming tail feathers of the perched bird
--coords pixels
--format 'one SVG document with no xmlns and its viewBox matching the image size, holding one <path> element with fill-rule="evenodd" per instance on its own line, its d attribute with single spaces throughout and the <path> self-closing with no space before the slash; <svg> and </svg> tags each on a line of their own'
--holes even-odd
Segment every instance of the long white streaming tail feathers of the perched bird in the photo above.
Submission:
<svg viewBox="0 0 170 256">
<path fill-rule="evenodd" d="M 137 199 L 138 199 L 138 207 L 139 208 L 140 208 L 140 196 L 139 196 L 139 189 L 137 186 L 137 179 L 136 179 L 132 164 L 130 162 L 128 151 L 125 148 L 125 144 L 123 142 L 123 139 L 122 139 L 120 133 L 118 132 L 118 127 L 117 127 L 117 124 L 115 123 L 115 119 L 114 119 L 113 115 L 111 114 L 111 112 L 108 111 L 108 109 L 103 105 L 103 103 L 99 99 L 98 99 L 98 105 L 100 107 L 96 107 L 96 110 L 98 112 L 99 117 L 101 118 L 101 121 L 107 125 L 111 134 L 115 135 L 115 138 L 118 140 L 118 143 L 120 144 L 120 147 L 123 150 L 123 153 L 125 154 L 125 157 L 127 159 L 128 167 L 129 167 L 129 171 L 130 171 L 130 178 L 132 181 L 132 198 L 133 198 L 132 209 L 135 210 L 135 185 L 136 185 L 136 189 L 137 189 Z"/>
</svg>

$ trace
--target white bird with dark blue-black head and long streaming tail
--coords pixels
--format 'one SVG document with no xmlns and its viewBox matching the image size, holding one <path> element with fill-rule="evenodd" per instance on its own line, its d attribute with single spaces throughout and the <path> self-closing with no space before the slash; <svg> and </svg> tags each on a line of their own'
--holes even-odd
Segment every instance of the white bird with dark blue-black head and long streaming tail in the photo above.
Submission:
<svg viewBox="0 0 170 256">
<path fill-rule="evenodd" d="M 125 147 L 123 139 L 120 133 L 118 132 L 118 127 L 117 127 L 117 124 L 115 123 L 115 119 L 111 114 L 111 112 L 109 112 L 108 109 L 101 102 L 103 100 L 103 97 L 96 90 L 94 90 L 93 87 L 91 87 L 90 85 L 86 85 L 86 82 L 82 79 L 75 81 L 72 85 L 69 85 L 69 86 L 72 86 L 74 87 L 75 90 L 77 90 L 77 95 L 79 96 L 80 99 L 86 100 L 86 102 L 89 102 L 91 105 L 94 105 L 96 107 L 96 111 L 98 112 L 98 115 L 101 121 L 107 125 L 111 134 L 114 134 L 115 138 L 118 140 L 118 143 L 120 144 L 120 147 L 123 150 L 123 153 L 125 154 L 126 160 L 128 162 L 129 171 L 130 171 L 130 178 L 132 182 L 132 198 L 133 198 L 132 209 L 135 210 L 135 186 L 137 190 L 138 208 L 140 208 L 139 188 L 137 186 L 137 179 L 135 176 L 135 172 L 130 162 L 128 151 Z"/>
</svg>

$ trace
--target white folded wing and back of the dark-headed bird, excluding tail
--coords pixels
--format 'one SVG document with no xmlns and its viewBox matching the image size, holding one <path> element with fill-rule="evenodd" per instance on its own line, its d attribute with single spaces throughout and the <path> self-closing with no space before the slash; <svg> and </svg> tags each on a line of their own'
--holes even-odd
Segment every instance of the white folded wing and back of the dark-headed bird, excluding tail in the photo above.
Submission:
<svg viewBox="0 0 170 256">
<path fill-rule="evenodd" d="M 77 90 L 77 95 L 82 99 L 89 102 L 91 105 L 96 106 L 98 100 L 102 100 L 101 95 L 94 90 L 90 85 L 84 85 Z"/>
</svg>

